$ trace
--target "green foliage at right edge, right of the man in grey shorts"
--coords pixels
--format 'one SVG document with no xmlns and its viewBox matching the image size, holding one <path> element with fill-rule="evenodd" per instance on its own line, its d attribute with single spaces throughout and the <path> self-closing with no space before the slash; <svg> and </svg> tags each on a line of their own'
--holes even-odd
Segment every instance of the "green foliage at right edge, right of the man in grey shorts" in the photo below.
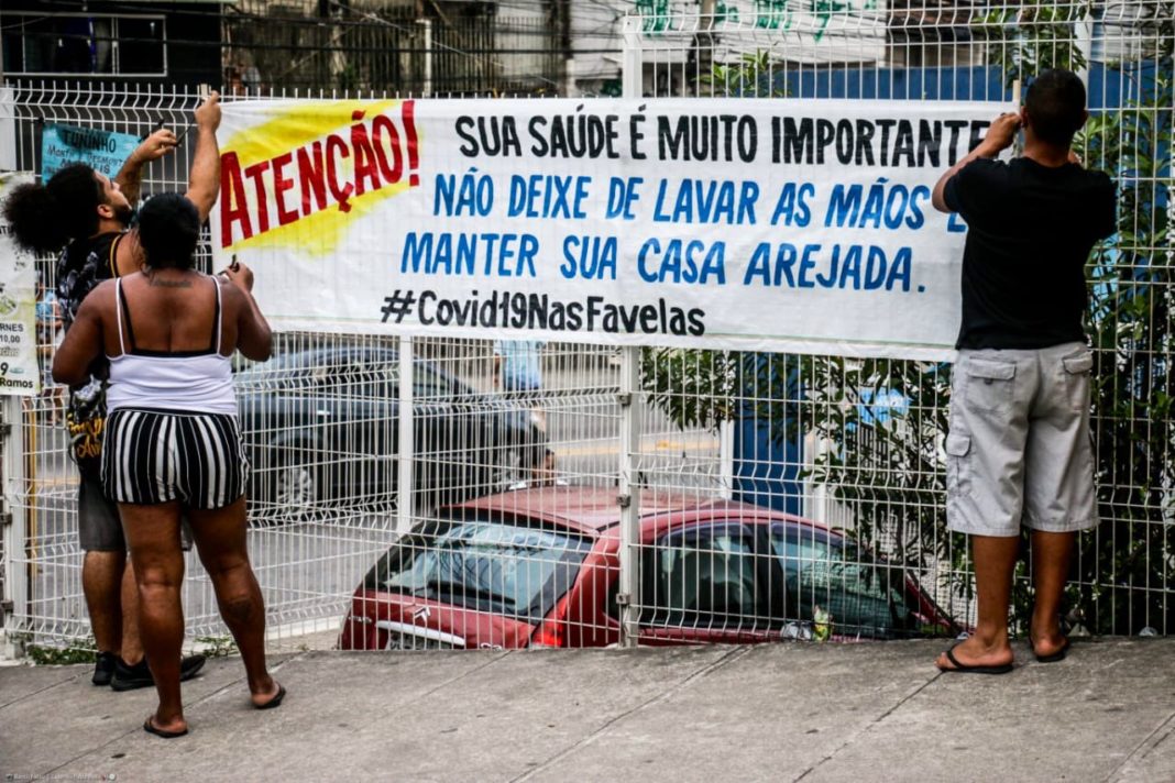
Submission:
<svg viewBox="0 0 1175 783">
<path fill-rule="evenodd" d="M 1081 542 L 1077 598 L 1096 625 L 1120 633 L 1175 629 L 1168 600 L 1175 528 L 1175 340 L 1170 205 L 1170 56 L 1137 101 L 1086 127 L 1087 160 L 1115 175 L 1119 234 L 1089 264 L 1089 331 L 1097 351 L 1094 391 L 1099 502 L 1103 525 Z M 1160 150 L 1162 153 L 1160 154 Z"/>
</svg>

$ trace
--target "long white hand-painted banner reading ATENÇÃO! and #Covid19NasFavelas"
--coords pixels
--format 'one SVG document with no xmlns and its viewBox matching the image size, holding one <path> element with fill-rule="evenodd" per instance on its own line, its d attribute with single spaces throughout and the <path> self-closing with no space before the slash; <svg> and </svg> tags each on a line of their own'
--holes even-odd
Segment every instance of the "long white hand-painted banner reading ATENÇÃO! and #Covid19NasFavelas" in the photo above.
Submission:
<svg viewBox="0 0 1175 783">
<path fill-rule="evenodd" d="M 214 244 L 278 329 L 947 358 L 1000 108 L 234 102 Z"/>
</svg>

